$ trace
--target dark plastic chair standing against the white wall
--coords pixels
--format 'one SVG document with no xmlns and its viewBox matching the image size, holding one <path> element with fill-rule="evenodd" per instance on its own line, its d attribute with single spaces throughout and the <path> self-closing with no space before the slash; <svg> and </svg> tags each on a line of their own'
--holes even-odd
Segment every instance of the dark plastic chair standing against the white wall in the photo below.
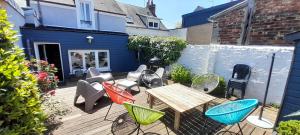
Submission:
<svg viewBox="0 0 300 135">
<path fill-rule="evenodd" d="M 251 75 L 251 67 L 245 64 L 237 64 L 233 68 L 232 78 L 228 81 L 225 97 L 234 93 L 234 89 L 241 90 L 241 98 L 245 97 L 245 90 Z M 231 90 L 230 90 L 231 89 Z M 230 92 L 231 91 L 231 92 Z"/>
</svg>

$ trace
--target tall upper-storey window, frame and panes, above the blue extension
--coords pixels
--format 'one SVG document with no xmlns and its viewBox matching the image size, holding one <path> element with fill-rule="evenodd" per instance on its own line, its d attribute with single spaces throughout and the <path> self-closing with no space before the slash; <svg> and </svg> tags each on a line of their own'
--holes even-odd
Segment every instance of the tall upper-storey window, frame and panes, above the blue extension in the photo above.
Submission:
<svg viewBox="0 0 300 135">
<path fill-rule="evenodd" d="M 92 0 L 76 0 L 78 27 L 83 29 L 94 28 L 94 6 Z"/>
</svg>

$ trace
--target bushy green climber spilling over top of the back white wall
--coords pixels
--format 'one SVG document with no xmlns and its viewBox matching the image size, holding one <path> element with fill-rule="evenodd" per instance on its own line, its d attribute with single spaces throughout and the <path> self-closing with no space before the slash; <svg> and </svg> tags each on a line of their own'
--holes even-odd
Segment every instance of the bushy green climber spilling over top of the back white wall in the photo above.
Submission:
<svg viewBox="0 0 300 135">
<path fill-rule="evenodd" d="M 175 63 L 186 46 L 186 41 L 175 37 L 131 36 L 128 43 L 129 50 L 141 52 L 142 62 L 157 56 L 162 60 L 161 66 Z"/>
</svg>

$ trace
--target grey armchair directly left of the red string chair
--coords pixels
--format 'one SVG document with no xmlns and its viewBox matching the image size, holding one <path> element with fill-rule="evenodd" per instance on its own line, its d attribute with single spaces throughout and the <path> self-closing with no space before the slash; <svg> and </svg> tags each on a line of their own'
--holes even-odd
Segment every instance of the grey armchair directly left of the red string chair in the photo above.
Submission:
<svg viewBox="0 0 300 135">
<path fill-rule="evenodd" d="M 95 102 L 104 95 L 105 91 L 100 83 L 92 84 L 85 80 L 79 80 L 77 83 L 76 94 L 74 97 L 74 105 L 76 105 L 79 96 L 85 99 L 85 111 L 93 109 Z"/>
</svg>

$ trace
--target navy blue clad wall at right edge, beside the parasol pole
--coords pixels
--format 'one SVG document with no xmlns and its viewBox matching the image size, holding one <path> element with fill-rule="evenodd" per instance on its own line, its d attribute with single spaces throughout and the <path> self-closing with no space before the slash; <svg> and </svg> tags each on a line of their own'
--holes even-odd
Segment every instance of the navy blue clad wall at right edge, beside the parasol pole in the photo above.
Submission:
<svg viewBox="0 0 300 135">
<path fill-rule="evenodd" d="M 296 42 L 297 45 L 295 46 L 294 51 L 294 59 L 292 61 L 292 67 L 277 122 L 291 119 L 300 120 L 300 116 L 284 117 L 300 111 L 300 33 L 298 36 L 298 41 Z"/>
</svg>

